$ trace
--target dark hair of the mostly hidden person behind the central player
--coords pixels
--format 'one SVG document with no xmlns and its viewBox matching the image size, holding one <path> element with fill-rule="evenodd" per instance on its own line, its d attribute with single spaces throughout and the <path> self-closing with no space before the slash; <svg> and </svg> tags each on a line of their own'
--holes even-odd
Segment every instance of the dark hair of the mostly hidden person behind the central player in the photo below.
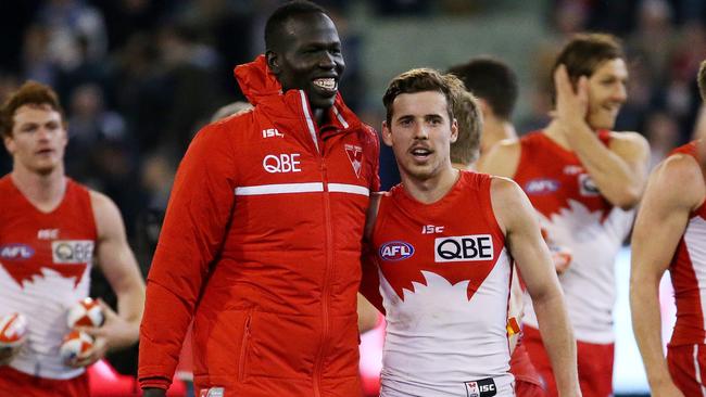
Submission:
<svg viewBox="0 0 706 397">
<path fill-rule="evenodd" d="M 474 95 L 488 102 L 495 116 L 510 118 L 519 89 L 517 76 L 504 62 L 480 56 L 452 66 L 449 73 L 457 76 Z"/>
</svg>

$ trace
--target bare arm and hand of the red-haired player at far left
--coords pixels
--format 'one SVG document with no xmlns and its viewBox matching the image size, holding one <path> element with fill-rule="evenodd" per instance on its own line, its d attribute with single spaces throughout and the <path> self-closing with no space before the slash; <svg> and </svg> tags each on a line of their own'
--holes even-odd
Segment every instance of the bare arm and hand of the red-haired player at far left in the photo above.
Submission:
<svg viewBox="0 0 706 397">
<path fill-rule="evenodd" d="M 117 296 L 117 312 L 103 304 L 105 323 L 100 328 L 85 329 L 96 337 L 96 344 L 87 357 L 75 362 L 78 367 L 94 362 L 106 351 L 137 343 L 144 307 L 144 282 L 127 244 L 121 213 L 101 193 L 91 191 L 90 198 L 98 229 L 98 266 Z"/>
</svg>

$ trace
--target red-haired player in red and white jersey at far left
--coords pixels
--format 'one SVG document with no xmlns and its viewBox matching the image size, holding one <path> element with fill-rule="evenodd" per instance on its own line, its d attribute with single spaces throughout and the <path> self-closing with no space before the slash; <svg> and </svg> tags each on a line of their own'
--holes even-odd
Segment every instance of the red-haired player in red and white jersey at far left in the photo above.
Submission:
<svg viewBox="0 0 706 397">
<path fill-rule="evenodd" d="M 0 357 L 0 395 L 87 396 L 85 367 L 137 342 L 144 284 L 119 210 L 105 195 L 64 174 L 66 125 L 56 94 L 26 82 L 0 110 L 0 132 L 13 158 L 0 179 L 0 315 L 28 320 L 22 348 Z M 96 261 L 117 295 L 117 313 L 85 329 L 85 356 L 64 362 L 59 348 L 66 311 L 88 296 Z"/>
</svg>

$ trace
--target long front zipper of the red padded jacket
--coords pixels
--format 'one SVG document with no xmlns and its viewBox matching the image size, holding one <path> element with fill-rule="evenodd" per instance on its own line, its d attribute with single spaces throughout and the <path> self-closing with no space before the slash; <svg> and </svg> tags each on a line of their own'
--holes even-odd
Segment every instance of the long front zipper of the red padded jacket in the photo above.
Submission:
<svg viewBox="0 0 706 397">
<path fill-rule="evenodd" d="M 326 268 L 324 270 L 324 287 L 322 289 L 322 316 L 323 316 L 323 331 L 322 331 L 322 345 L 318 349 L 314 367 L 314 397 L 320 397 L 320 382 L 322 382 L 322 367 L 324 364 L 324 357 L 326 356 L 329 334 L 329 319 L 328 319 L 328 305 L 329 305 L 329 287 L 330 287 L 330 272 L 333 266 L 333 233 L 331 227 L 331 202 L 328 192 L 328 175 L 326 163 L 322 159 L 322 178 L 324 181 L 324 215 L 326 222 Z"/>
</svg>

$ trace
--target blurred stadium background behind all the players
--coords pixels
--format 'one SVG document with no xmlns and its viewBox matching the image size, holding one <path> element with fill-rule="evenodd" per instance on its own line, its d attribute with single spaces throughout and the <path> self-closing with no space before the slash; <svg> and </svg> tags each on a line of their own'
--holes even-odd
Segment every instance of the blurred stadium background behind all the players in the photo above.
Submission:
<svg viewBox="0 0 706 397">
<path fill-rule="evenodd" d="M 327 0 L 343 40 L 346 103 L 371 126 L 381 95 L 412 67 L 445 69 L 490 54 L 518 74 L 518 131 L 542 127 L 547 69 L 563 41 L 582 30 L 622 38 L 629 100 L 618 130 L 643 133 L 652 164 L 694 131 L 694 81 L 706 59 L 703 0 Z M 242 100 L 232 67 L 261 53 L 277 0 L 0 1 L 0 100 L 25 79 L 54 87 L 68 119 L 67 174 L 119 206 L 147 273 L 173 175 L 192 135 L 222 105 Z M 703 130 L 703 128 L 702 128 Z M 2 151 L 0 174 L 11 161 Z M 381 153 L 383 188 L 399 176 Z M 617 262 L 616 394 L 646 393 L 629 321 L 629 249 Z M 104 295 L 100 274 L 94 295 Z M 671 296 L 663 294 L 669 312 Z M 110 300 L 110 297 L 108 297 Z M 670 332 L 667 316 L 665 332 Z M 129 373 L 136 350 L 117 355 Z M 365 361 L 365 358 L 364 358 Z"/>
</svg>

